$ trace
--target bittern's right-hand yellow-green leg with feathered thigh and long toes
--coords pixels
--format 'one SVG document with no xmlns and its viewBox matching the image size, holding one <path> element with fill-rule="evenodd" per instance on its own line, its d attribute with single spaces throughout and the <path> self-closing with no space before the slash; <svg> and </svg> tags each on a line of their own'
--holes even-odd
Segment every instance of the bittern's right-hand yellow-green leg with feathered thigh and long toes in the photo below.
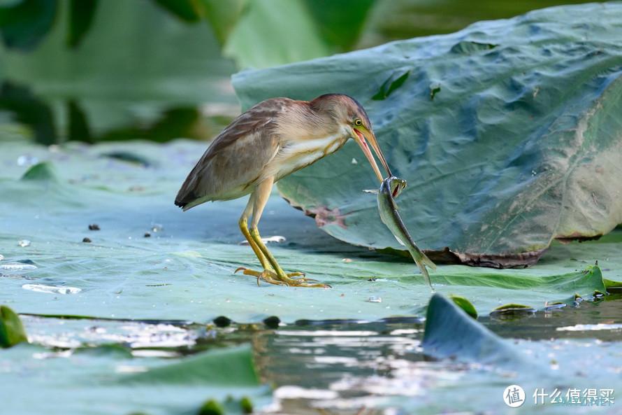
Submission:
<svg viewBox="0 0 622 415">
<path fill-rule="evenodd" d="M 266 256 L 270 265 L 272 265 L 273 270 L 264 270 L 261 273 L 261 278 L 266 280 L 269 283 L 286 285 L 286 286 L 301 286 L 301 287 L 318 287 L 325 288 L 324 284 L 310 284 L 306 281 L 311 281 L 304 278 L 304 274 L 301 272 L 293 272 L 291 274 L 286 274 L 283 269 L 280 267 L 277 260 L 274 258 L 272 253 L 268 250 L 266 244 L 263 244 L 261 240 L 261 235 L 259 235 L 259 229 L 257 225 L 259 224 L 259 219 L 261 218 L 261 214 L 263 213 L 263 208 L 266 206 L 268 202 L 268 197 L 270 197 L 270 191 L 272 190 L 272 185 L 274 183 L 274 178 L 266 178 L 266 180 L 262 181 L 257 185 L 253 192 L 254 200 L 253 200 L 253 219 L 250 227 L 250 237 L 255 242 L 256 246 L 259 250 Z M 246 272 L 245 272 L 246 274 Z M 294 276 L 301 276 L 301 278 L 292 278 Z M 259 277 L 259 276 L 258 276 Z"/>
</svg>

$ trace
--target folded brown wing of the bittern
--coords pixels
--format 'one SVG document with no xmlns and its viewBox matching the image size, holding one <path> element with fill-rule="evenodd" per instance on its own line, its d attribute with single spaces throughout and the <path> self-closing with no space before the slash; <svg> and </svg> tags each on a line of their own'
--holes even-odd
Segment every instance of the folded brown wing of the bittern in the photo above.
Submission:
<svg viewBox="0 0 622 415">
<path fill-rule="evenodd" d="M 189 209 L 208 200 L 238 197 L 241 195 L 231 192 L 254 184 L 279 150 L 273 132 L 275 119 L 286 101 L 289 100 L 268 99 L 233 120 L 190 171 L 175 204 Z"/>
</svg>

